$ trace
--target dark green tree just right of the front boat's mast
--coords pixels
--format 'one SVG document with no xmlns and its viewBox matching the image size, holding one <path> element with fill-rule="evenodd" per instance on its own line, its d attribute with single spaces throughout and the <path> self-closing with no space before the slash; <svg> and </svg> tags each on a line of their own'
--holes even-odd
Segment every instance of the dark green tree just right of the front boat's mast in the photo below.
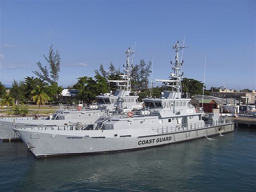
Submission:
<svg viewBox="0 0 256 192">
<path fill-rule="evenodd" d="M 201 81 L 184 78 L 181 81 L 181 85 L 182 85 L 182 91 L 184 93 L 190 93 L 190 96 L 203 94 L 204 84 Z"/>
</svg>

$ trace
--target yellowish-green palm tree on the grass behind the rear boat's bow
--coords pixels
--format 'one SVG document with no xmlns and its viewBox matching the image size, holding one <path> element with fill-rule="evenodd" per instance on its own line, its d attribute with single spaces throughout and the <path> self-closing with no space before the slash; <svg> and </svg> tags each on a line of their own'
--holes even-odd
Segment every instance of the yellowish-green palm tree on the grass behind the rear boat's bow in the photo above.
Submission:
<svg viewBox="0 0 256 192">
<path fill-rule="evenodd" d="M 36 105 L 38 105 L 38 111 L 40 111 L 40 106 L 45 105 L 45 103 L 48 102 L 50 99 L 49 96 L 44 92 L 44 87 L 41 85 L 37 85 L 35 89 L 31 91 L 32 101 L 36 102 Z"/>
</svg>

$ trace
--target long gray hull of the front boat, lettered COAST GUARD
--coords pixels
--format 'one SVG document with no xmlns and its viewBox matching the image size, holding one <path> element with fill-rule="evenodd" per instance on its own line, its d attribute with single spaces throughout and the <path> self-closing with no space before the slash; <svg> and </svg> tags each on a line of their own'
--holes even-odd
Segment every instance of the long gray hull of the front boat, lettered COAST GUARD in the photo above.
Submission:
<svg viewBox="0 0 256 192">
<path fill-rule="evenodd" d="M 38 158 L 68 155 L 93 154 L 115 151 L 138 150 L 157 147 L 205 136 L 223 134 L 234 130 L 234 123 L 201 129 L 187 129 L 179 132 L 156 134 L 150 128 L 122 132 L 122 130 L 60 131 L 14 129 L 29 150 Z M 70 135 L 70 134 L 72 135 Z M 125 134 L 125 135 L 124 135 Z M 115 136 L 116 135 L 116 136 Z"/>
</svg>

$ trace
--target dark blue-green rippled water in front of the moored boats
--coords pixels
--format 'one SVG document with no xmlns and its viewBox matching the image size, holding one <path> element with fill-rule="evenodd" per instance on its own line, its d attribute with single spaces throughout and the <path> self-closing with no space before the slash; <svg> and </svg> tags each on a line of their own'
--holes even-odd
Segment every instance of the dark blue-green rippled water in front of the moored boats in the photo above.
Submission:
<svg viewBox="0 0 256 192">
<path fill-rule="evenodd" d="M 0 143 L 0 191 L 256 191 L 256 128 L 122 153 L 37 159 Z"/>
</svg>

